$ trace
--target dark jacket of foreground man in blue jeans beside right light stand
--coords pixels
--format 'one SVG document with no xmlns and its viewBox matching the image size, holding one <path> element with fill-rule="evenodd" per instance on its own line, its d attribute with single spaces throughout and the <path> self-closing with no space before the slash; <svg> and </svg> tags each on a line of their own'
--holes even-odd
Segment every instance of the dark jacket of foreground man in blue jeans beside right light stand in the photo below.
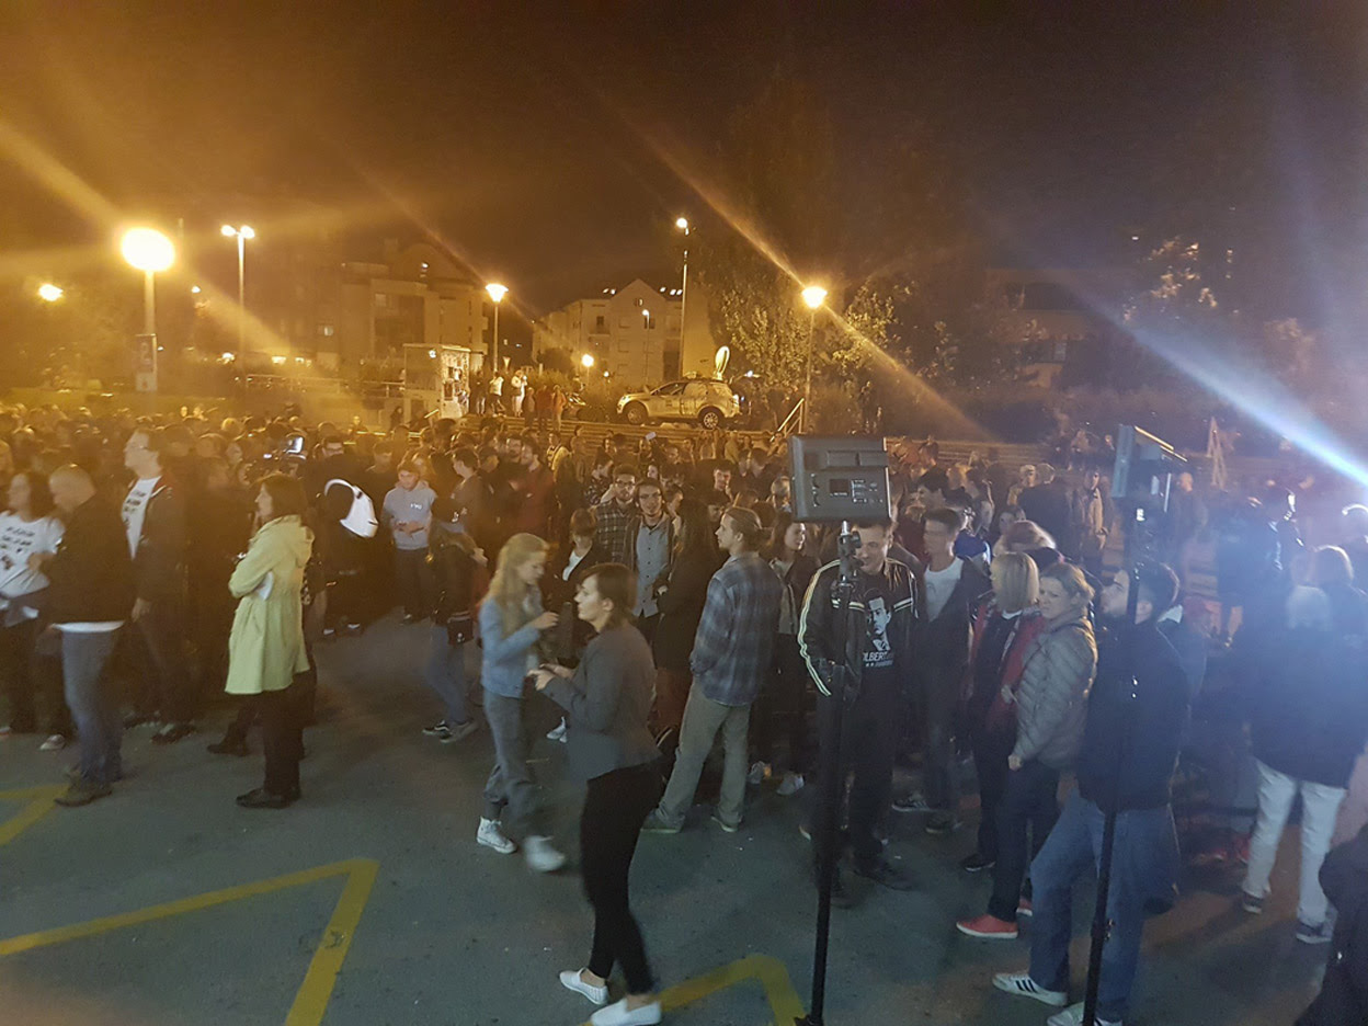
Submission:
<svg viewBox="0 0 1368 1026">
<path fill-rule="evenodd" d="M 1187 677 L 1153 622 L 1104 633 L 1078 757 L 1079 793 L 1103 811 L 1118 799 L 1118 811 L 1168 804 L 1187 713 Z"/>
</svg>

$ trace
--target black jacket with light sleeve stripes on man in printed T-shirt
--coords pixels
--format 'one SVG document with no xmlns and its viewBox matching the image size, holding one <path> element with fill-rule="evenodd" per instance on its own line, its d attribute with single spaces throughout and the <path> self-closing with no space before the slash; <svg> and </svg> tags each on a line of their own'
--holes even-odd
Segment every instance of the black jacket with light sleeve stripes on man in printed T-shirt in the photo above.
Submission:
<svg viewBox="0 0 1368 1026">
<path fill-rule="evenodd" d="M 851 596 L 851 610 L 858 617 L 858 629 L 847 632 L 845 653 L 839 653 L 833 647 L 839 598 L 836 584 L 840 579 L 840 562 L 829 562 L 813 577 L 803 599 L 803 611 L 799 616 L 798 647 L 807 663 L 807 672 L 817 684 L 822 695 L 830 695 L 830 665 L 839 663 L 844 655 L 850 670 L 850 681 L 859 691 L 865 669 L 865 642 L 869 631 L 865 624 L 870 616 L 866 595 L 870 591 L 870 579 L 856 569 L 855 590 Z M 892 621 L 888 625 L 888 643 L 893 650 L 893 676 L 899 681 L 906 681 L 912 673 L 912 646 L 915 644 L 917 614 L 925 609 L 922 584 L 912 569 L 899 561 L 889 558 L 884 564 L 881 575 L 882 586 L 893 595 Z M 966 642 L 967 644 L 967 642 Z M 966 650 L 967 651 L 967 650 Z"/>
</svg>

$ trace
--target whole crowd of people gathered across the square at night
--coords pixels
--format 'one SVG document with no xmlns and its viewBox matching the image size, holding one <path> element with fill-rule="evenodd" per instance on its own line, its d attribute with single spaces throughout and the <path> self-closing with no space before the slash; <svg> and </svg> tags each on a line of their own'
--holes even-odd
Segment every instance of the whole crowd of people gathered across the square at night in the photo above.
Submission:
<svg viewBox="0 0 1368 1026">
<path fill-rule="evenodd" d="M 473 840 L 521 851 L 539 873 L 566 855 L 531 762 L 529 706 L 564 714 L 549 736 L 587 784 L 579 865 L 595 929 L 586 967 L 561 982 L 603 1005 L 599 1026 L 661 1019 L 628 900 L 640 834 L 687 829 L 700 796 L 736 832 L 747 788 L 773 782 L 813 837 L 825 798 L 841 810 L 833 902 L 848 906 L 867 885 L 847 873 L 918 886 L 885 855 L 892 817 L 953 834 L 970 780 L 981 811 L 960 867 L 992 876 L 992 892 L 958 929 L 1015 940 L 1030 919 L 1029 969 L 992 982 L 1063 1008 L 1051 1026 L 1082 1022 L 1082 1005 L 1064 1008 L 1073 884 L 1116 815 L 1097 1005 L 1097 1023 L 1116 1026 L 1145 918 L 1175 899 L 1175 774 L 1204 744 L 1193 710 L 1213 689 L 1211 655 L 1234 681 L 1218 689 L 1222 709 L 1250 725 L 1227 776 L 1257 778 L 1241 906 L 1263 910 L 1300 795 L 1295 936 L 1338 952 L 1305 1022 L 1350 1021 L 1327 1016 L 1365 997 L 1364 841 L 1326 855 L 1368 822 L 1368 598 L 1354 586 L 1368 509 L 1345 510 L 1342 546 L 1308 551 L 1290 491 L 1239 503 L 1220 528 L 1223 616 L 1208 629 L 1186 587 L 1190 543 L 1208 529 L 1192 475 L 1150 558 L 1108 572 L 1118 514 L 1097 461 L 1079 453 L 1060 473 L 988 450 L 943 465 L 938 449 L 892 446 L 891 516 L 854 525 L 847 609 L 839 531 L 795 521 L 792 482 L 763 438 L 609 434 L 591 446 L 579 428 L 494 416 L 376 435 L 283 416 L 0 410 L 4 736 L 77 744 L 59 802 L 82 806 L 114 792 L 123 729 L 182 743 L 226 692 L 234 718 L 209 750 L 246 755 L 260 721 L 264 781 L 237 800 L 285 808 L 301 799 L 315 646 L 399 606 L 405 629 L 428 635 L 440 718 L 424 735 L 492 739 Z M 854 624 L 844 650 L 839 616 Z M 824 796 L 815 770 L 836 748 L 845 773 Z M 921 785 L 895 788 L 904 780 Z M 607 1004 L 614 966 L 627 993 Z"/>
</svg>

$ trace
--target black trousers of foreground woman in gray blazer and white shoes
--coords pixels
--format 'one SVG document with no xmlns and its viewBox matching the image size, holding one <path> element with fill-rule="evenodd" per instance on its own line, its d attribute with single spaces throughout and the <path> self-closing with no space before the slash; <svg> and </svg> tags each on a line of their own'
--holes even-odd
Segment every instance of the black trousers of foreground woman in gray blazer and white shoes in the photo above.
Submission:
<svg viewBox="0 0 1368 1026">
<path fill-rule="evenodd" d="M 642 929 L 628 903 L 628 877 L 642 824 L 659 796 L 655 766 L 629 766 L 591 780 L 580 814 L 580 871 L 594 906 L 588 970 L 607 979 L 613 964 L 620 964 L 633 995 L 655 989 Z"/>
</svg>

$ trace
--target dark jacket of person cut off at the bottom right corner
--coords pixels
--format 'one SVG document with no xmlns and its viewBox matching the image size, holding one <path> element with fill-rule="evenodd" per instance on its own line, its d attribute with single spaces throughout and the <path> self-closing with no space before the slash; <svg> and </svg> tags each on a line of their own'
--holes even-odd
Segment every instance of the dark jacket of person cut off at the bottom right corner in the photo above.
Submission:
<svg viewBox="0 0 1368 1026">
<path fill-rule="evenodd" d="M 1368 826 L 1326 856 L 1320 886 L 1335 906 L 1326 982 L 1297 1026 L 1368 1023 Z"/>
</svg>

